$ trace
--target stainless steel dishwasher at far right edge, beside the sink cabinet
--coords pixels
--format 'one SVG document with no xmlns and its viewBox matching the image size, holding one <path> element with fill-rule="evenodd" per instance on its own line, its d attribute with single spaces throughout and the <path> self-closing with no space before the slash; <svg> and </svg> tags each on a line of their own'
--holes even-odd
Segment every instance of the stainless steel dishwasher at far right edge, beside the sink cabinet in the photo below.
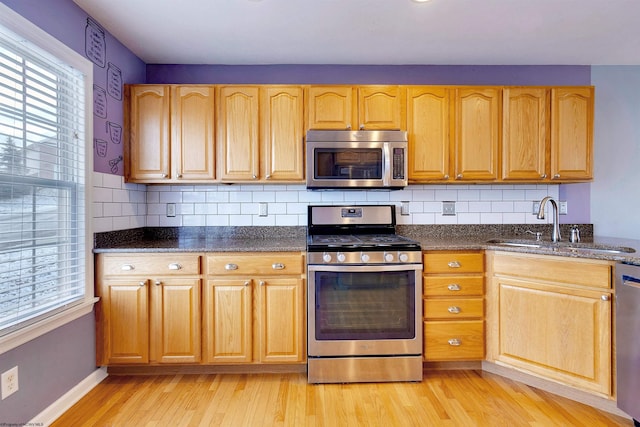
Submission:
<svg viewBox="0 0 640 427">
<path fill-rule="evenodd" d="M 640 426 L 640 265 L 616 265 L 618 408 Z"/>
</svg>

